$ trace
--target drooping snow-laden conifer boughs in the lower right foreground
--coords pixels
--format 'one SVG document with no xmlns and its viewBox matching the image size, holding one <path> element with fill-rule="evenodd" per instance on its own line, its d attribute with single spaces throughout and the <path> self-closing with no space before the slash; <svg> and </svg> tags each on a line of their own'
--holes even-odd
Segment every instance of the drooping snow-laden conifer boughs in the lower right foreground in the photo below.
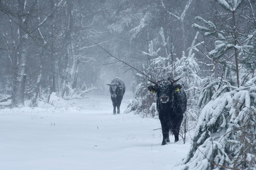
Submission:
<svg viewBox="0 0 256 170">
<path fill-rule="evenodd" d="M 201 111 L 190 152 L 176 169 L 255 166 L 256 77 L 234 90 L 224 91 L 227 87 L 216 91 Z"/>
</svg>

